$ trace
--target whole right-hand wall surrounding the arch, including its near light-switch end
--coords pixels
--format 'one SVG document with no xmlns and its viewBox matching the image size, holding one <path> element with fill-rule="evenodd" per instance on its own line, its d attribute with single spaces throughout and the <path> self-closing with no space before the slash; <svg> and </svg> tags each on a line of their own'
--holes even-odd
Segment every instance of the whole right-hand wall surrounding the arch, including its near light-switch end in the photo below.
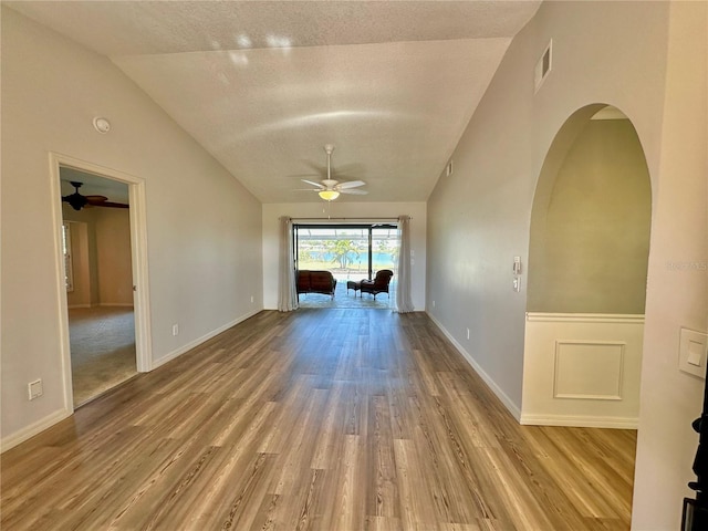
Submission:
<svg viewBox="0 0 708 531">
<path fill-rule="evenodd" d="M 634 124 L 653 192 L 633 512 L 633 528 L 642 531 L 679 527 L 698 441 L 690 421 L 701 408 L 702 383 L 678 372 L 677 347 L 680 325 L 708 326 L 700 269 L 708 256 L 706 9 L 706 2 L 544 2 L 460 139 L 455 174 L 440 178 L 428 202 L 428 311 L 520 406 L 525 292 L 523 283 L 520 294 L 511 291 L 511 259 L 528 254 L 545 154 L 585 105 L 614 105 Z M 553 70 L 534 95 L 534 66 L 550 39 Z"/>
</svg>

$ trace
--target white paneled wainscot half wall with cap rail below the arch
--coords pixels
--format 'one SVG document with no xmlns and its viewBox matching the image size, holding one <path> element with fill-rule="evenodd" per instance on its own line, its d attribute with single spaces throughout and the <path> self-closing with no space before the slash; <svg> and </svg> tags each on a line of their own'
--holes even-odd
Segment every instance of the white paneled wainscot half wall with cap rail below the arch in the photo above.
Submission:
<svg viewBox="0 0 708 531">
<path fill-rule="evenodd" d="M 636 428 L 644 315 L 527 313 L 521 424 Z"/>
</svg>

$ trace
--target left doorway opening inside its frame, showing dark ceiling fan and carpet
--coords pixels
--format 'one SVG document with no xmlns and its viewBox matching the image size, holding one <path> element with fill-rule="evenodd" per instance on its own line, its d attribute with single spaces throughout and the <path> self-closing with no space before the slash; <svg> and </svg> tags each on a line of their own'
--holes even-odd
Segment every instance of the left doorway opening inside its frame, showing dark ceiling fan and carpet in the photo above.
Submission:
<svg viewBox="0 0 708 531">
<path fill-rule="evenodd" d="M 59 173 L 77 407 L 137 374 L 129 198 L 124 183 L 64 166 Z"/>
</svg>

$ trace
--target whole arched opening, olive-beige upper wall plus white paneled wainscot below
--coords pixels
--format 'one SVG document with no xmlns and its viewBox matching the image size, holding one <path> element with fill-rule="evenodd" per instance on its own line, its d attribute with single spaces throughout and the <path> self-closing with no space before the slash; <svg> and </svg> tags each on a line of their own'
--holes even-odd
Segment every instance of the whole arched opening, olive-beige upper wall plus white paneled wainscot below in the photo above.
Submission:
<svg viewBox="0 0 708 531">
<path fill-rule="evenodd" d="M 636 427 L 652 190 L 632 122 L 571 115 L 531 215 L 522 421 Z"/>
</svg>

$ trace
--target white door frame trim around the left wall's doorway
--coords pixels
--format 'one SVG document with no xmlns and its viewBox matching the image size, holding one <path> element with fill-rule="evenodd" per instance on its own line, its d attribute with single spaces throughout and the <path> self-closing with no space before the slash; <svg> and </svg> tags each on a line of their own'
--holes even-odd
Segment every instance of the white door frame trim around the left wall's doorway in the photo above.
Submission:
<svg viewBox="0 0 708 531">
<path fill-rule="evenodd" d="M 50 152 L 50 186 L 54 230 L 54 257 L 58 288 L 58 314 L 60 325 L 60 353 L 62 360 L 62 375 L 64 383 L 64 407 L 74 410 L 72 391 L 71 346 L 69 336 L 69 303 L 66 299 L 64 254 L 62 250 L 62 195 L 60 167 L 69 167 L 81 171 L 95 174 L 100 177 L 117 180 L 128 186 L 131 208 L 131 252 L 133 269 L 133 310 L 135 319 L 135 361 L 139 373 L 147 373 L 153 368 L 153 353 L 150 344 L 150 299 L 147 262 L 147 222 L 145 207 L 145 179 L 133 175 L 106 168 L 86 160 L 67 155 Z"/>
</svg>

